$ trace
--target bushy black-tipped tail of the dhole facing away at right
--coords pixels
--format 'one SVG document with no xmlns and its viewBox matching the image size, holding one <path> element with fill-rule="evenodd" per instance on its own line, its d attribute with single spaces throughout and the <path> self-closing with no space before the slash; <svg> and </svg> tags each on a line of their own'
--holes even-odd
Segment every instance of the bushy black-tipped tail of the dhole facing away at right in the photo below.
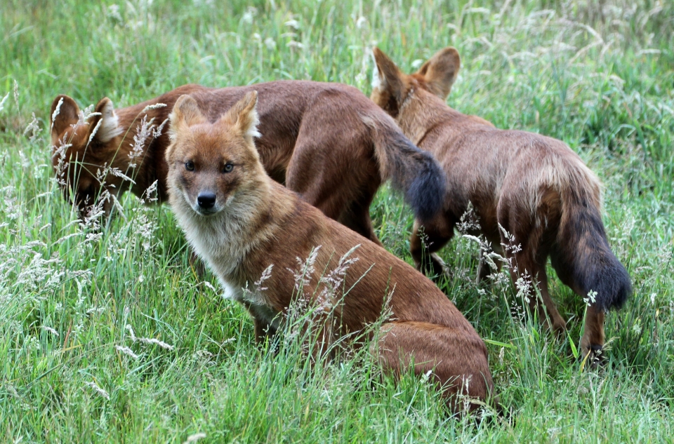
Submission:
<svg viewBox="0 0 674 444">
<path fill-rule="evenodd" d="M 619 309 L 632 292 L 630 276 L 609 247 L 599 209 L 577 192 L 571 194 L 564 199 L 553 267 L 595 308 Z"/>
</svg>

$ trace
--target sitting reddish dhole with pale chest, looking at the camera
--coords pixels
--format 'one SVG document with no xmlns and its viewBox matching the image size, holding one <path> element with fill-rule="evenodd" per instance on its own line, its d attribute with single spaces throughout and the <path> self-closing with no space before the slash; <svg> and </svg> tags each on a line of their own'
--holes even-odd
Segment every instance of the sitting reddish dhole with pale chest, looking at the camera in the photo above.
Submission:
<svg viewBox="0 0 674 444">
<path fill-rule="evenodd" d="M 171 208 L 197 254 L 249 310 L 256 339 L 275 335 L 289 307 L 313 307 L 310 356 L 330 356 L 338 338 L 366 331 L 388 312 L 371 345 L 385 371 L 432 375 L 454 410 L 461 410 L 457 393 L 484 401 L 493 389 L 487 349 L 447 296 L 267 176 L 253 142 L 256 100 L 255 91 L 246 93 L 210 123 L 183 95 L 166 151 Z M 304 268 L 297 258 L 306 259 Z"/>
</svg>

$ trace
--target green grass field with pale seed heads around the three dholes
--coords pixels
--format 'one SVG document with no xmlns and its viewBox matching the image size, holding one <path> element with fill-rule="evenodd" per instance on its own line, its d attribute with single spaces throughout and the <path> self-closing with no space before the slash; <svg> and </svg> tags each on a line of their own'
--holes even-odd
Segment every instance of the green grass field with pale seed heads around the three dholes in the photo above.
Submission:
<svg viewBox="0 0 674 444">
<path fill-rule="evenodd" d="M 1 442 L 673 442 L 672 2 L 103 3 L 0 7 Z M 407 71 L 455 46 L 451 107 L 564 140 L 605 184 L 634 295 L 607 316 L 603 370 L 574 358 L 584 305 L 556 278 L 562 339 L 522 316 L 509 283 L 475 285 L 473 241 L 442 252 L 442 289 L 489 341 L 510 422 L 451 418 L 428 383 L 382 379 L 366 356 L 310 369 L 297 341 L 258 349 L 244 309 L 190 268 L 167 206 L 126 196 L 94 231 L 53 179 L 59 93 L 123 107 L 188 82 L 313 79 L 369 94 L 375 44 Z M 411 262 L 400 196 L 384 187 L 371 213 Z"/>
</svg>

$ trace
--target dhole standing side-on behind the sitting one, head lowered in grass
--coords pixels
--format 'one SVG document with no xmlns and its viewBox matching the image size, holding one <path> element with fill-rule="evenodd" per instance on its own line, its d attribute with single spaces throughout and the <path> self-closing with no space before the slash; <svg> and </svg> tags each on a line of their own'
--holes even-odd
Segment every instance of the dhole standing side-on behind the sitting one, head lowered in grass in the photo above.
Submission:
<svg viewBox="0 0 674 444">
<path fill-rule="evenodd" d="M 59 95 L 51 107 L 51 142 L 65 194 L 82 216 L 91 208 L 109 213 L 120 193 L 130 189 L 143 197 L 155 182 L 153 197 L 164 201 L 169 137 L 163 129 L 178 97 L 191 95 L 206 119 L 215 121 L 253 88 L 260 92 L 263 136 L 257 148 L 265 170 L 325 215 L 378 242 L 369 206 L 388 179 L 404 191 L 418 218 L 437 213 L 445 181 L 433 156 L 411 144 L 356 88 L 314 81 L 185 85 L 117 110 L 106 97 L 86 116 L 72 98 Z"/>
</svg>

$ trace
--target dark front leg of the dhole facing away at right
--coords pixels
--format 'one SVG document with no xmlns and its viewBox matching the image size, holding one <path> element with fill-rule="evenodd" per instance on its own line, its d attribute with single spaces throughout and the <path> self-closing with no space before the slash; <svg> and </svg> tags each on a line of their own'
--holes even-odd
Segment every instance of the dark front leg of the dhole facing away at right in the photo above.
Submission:
<svg viewBox="0 0 674 444">
<path fill-rule="evenodd" d="M 440 213 L 423 225 L 415 220 L 409 249 L 416 269 L 431 277 L 442 276 L 446 267 L 436 252 L 444 247 L 453 235 L 454 221 L 450 220 L 447 214 Z"/>
</svg>

